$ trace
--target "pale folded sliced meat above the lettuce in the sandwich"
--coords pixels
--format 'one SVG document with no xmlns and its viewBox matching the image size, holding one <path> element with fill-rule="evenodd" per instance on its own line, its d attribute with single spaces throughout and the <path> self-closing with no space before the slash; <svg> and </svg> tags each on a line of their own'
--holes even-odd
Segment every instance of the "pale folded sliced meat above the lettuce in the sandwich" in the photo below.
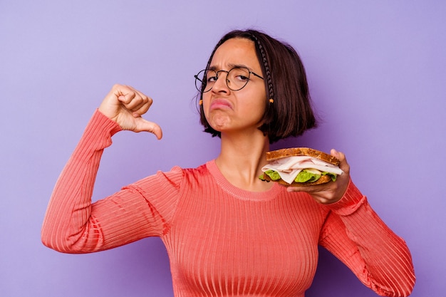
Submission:
<svg viewBox="0 0 446 297">
<path fill-rule="evenodd" d="M 265 165 L 261 168 L 261 171 L 274 170 L 279 172 L 281 179 L 291 184 L 299 172 L 310 168 L 321 172 L 343 174 L 343 171 L 339 167 L 309 156 L 291 156 L 277 159 Z"/>
</svg>

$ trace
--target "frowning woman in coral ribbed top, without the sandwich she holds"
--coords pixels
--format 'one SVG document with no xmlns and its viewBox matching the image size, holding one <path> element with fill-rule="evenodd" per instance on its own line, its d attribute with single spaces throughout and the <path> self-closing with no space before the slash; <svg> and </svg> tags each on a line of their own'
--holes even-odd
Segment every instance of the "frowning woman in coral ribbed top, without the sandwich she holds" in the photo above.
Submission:
<svg viewBox="0 0 446 297">
<path fill-rule="evenodd" d="M 345 172 L 336 182 L 282 187 L 258 177 L 269 144 L 316 125 L 304 67 L 291 46 L 259 31 L 232 31 L 196 76 L 204 130 L 221 152 L 195 169 L 174 167 L 91 203 L 99 160 L 120 130 L 160 127 L 141 116 L 152 100 L 115 85 L 61 173 L 43 222 L 43 244 L 67 253 L 160 236 L 175 296 L 304 296 L 318 245 L 383 296 L 408 296 L 410 252 Z"/>
</svg>

